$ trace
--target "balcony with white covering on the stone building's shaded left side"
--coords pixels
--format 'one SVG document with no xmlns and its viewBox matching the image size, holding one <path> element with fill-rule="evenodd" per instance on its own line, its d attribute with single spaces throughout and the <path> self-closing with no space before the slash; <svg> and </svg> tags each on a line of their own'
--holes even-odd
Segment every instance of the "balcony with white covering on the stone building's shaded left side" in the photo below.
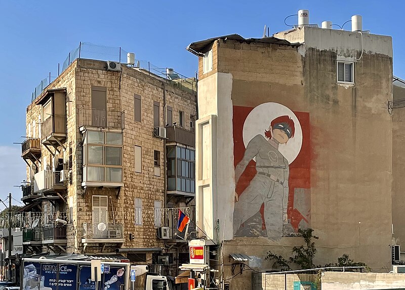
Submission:
<svg viewBox="0 0 405 290">
<path fill-rule="evenodd" d="M 64 171 L 42 170 L 34 175 L 34 193 L 66 191 Z M 62 179 L 61 179 L 62 178 Z M 61 181 L 62 180 L 62 181 Z"/>
</svg>

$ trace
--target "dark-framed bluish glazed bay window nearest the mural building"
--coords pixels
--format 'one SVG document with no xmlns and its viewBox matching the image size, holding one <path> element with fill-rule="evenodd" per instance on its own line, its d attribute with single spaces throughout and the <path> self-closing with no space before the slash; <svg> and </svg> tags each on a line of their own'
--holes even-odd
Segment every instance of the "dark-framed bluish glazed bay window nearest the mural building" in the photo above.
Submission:
<svg viewBox="0 0 405 290">
<path fill-rule="evenodd" d="M 168 147 L 168 190 L 195 193 L 195 154 L 184 147 Z"/>
</svg>

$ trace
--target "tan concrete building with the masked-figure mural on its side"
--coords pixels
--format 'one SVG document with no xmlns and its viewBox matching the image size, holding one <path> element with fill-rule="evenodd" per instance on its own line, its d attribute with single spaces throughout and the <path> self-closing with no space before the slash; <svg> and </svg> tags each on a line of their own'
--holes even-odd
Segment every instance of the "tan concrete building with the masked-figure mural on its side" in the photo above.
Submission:
<svg viewBox="0 0 405 290">
<path fill-rule="evenodd" d="M 206 245 L 223 242 L 231 289 L 251 289 L 249 268 L 273 270 L 267 251 L 290 257 L 299 228 L 319 236 L 315 265 L 347 253 L 391 268 L 392 39 L 353 24 L 188 47 L 199 64 L 196 223 Z M 251 260 L 238 277 L 233 253 Z"/>
</svg>

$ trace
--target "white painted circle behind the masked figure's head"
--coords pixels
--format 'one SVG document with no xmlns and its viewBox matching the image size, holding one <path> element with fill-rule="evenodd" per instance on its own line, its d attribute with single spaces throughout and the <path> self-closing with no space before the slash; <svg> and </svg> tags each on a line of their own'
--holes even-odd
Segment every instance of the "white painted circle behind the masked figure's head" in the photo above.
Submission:
<svg viewBox="0 0 405 290">
<path fill-rule="evenodd" d="M 298 156 L 302 146 L 302 129 L 297 116 L 288 107 L 279 103 L 263 103 L 255 107 L 248 115 L 244 123 L 243 137 L 245 148 L 250 140 L 256 135 L 264 135 L 269 129 L 270 123 L 277 117 L 289 116 L 294 122 L 294 137 L 285 144 L 279 144 L 278 151 L 291 164 Z"/>
</svg>

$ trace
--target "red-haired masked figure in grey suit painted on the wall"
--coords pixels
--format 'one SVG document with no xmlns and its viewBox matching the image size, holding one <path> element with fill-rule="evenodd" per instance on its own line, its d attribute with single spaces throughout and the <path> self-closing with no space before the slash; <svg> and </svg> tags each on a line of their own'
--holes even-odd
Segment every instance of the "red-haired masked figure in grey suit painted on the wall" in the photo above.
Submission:
<svg viewBox="0 0 405 290">
<path fill-rule="evenodd" d="M 270 122 L 264 136 L 256 135 L 248 143 L 244 157 L 235 167 L 235 184 L 253 158 L 257 173 L 240 196 L 235 192 L 233 235 L 264 204 L 267 237 L 282 236 L 283 226 L 288 224 L 289 162 L 278 151 L 278 145 L 287 143 L 294 132 L 294 121 L 280 116 Z"/>
</svg>

